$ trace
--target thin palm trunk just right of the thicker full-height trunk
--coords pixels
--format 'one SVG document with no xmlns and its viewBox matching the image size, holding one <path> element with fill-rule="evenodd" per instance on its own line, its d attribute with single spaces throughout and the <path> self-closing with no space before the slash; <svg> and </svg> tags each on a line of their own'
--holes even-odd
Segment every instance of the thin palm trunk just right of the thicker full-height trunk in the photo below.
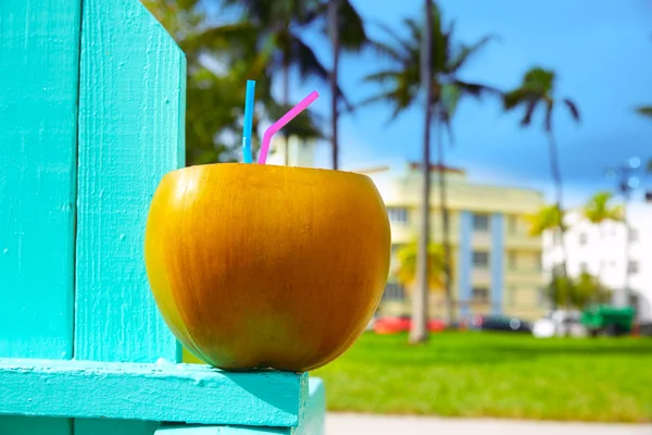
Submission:
<svg viewBox="0 0 652 435">
<path fill-rule="evenodd" d="M 436 119 L 439 112 L 435 114 Z M 446 171 L 443 156 L 443 138 L 441 125 L 437 130 L 437 165 L 439 166 L 439 212 L 441 213 L 441 232 L 443 240 L 443 289 L 446 294 L 446 322 L 451 325 L 453 322 L 453 291 L 451 288 L 451 243 L 450 243 L 450 221 L 446 196 Z"/>
</svg>

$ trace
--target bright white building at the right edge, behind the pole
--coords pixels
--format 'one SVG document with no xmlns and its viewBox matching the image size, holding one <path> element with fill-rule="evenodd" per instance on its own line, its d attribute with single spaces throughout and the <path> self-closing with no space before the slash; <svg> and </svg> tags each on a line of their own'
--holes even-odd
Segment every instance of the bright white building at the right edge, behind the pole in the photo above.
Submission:
<svg viewBox="0 0 652 435">
<path fill-rule="evenodd" d="M 615 303 L 623 302 L 618 299 L 623 293 L 617 290 L 625 288 L 629 281 L 634 297 L 630 303 L 637 308 L 637 318 L 652 322 L 652 204 L 632 203 L 627 215 L 631 226 L 629 240 L 623 223 L 606 222 L 599 227 L 584 220 L 579 211 L 569 212 L 566 216 L 569 228 L 564 240 L 567 271 L 570 276 L 582 271 L 601 276 L 606 287 L 616 290 Z M 548 276 L 561 259 L 561 248 L 553 244 L 553 234 L 546 234 L 542 264 Z"/>
</svg>

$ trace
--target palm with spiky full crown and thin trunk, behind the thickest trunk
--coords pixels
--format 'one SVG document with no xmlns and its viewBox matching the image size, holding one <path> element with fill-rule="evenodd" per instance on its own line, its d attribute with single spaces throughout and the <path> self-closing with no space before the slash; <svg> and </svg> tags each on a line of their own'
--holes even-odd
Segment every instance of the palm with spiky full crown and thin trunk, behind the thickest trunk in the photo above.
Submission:
<svg viewBox="0 0 652 435">
<path fill-rule="evenodd" d="M 388 69 L 367 75 L 364 80 L 368 83 L 375 83 L 381 87 L 381 91 L 367 98 L 362 103 L 368 104 L 374 102 L 389 103 L 392 107 L 392 113 L 389 122 L 394 121 L 401 113 L 406 109 L 417 104 L 417 97 L 419 95 L 427 96 L 426 107 L 431 111 L 430 115 L 426 112 L 427 121 L 424 128 L 424 150 L 423 150 L 423 162 L 422 171 L 424 174 L 424 185 L 422 190 L 422 244 L 427 244 L 430 216 L 429 216 L 429 195 L 430 195 L 430 151 L 429 151 L 429 128 L 432 127 L 437 130 L 437 126 L 444 126 L 449 129 L 450 136 L 450 121 L 454 113 L 457 101 L 467 96 L 480 97 L 486 92 L 499 94 L 496 89 L 477 84 L 469 83 L 460 78 L 460 73 L 467 64 L 468 60 L 477 54 L 491 40 L 491 37 L 484 37 L 473 45 L 455 44 L 453 37 L 454 26 L 448 24 L 444 26 L 441 18 L 439 9 L 431 1 L 426 1 L 426 7 L 430 12 L 427 12 L 425 16 L 426 25 L 431 20 L 431 44 L 427 45 L 428 57 L 430 58 L 429 64 L 429 77 L 425 77 L 422 73 L 424 64 L 427 64 L 427 60 L 422 54 L 424 42 L 428 38 L 424 38 L 424 28 L 415 20 L 406 18 L 403 21 L 403 27 L 408 37 L 403 37 L 396 33 L 393 29 L 387 26 L 383 26 L 386 33 L 391 37 L 392 41 L 385 44 L 381 41 L 373 41 L 373 46 L 376 50 L 388 58 L 392 65 Z M 426 41 L 424 41 L 426 39 Z M 424 61 L 422 63 L 422 61 Z M 425 90 L 422 83 L 426 80 L 429 84 L 429 90 Z M 425 92 L 423 91 L 425 90 Z M 443 158 L 443 144 L 441 141 L 441 135 L 437 135 L 439 139 L 437 141 L 438 149 L 438 164 L 437 166 L 441 170 L 439 173 L 439 195 L 440 195 L 440 213 L 442 220 L 442 239 L 444 249 L 444 287 L 447 295 L 447 318 L 449 321 L 453 319 L 452 309 L 452 289 L 451 289 L 451 249 L 449 241 L 449 213 L 447 208 L 446 199 L 446 171 L 444 158 Z M 428 228 L 428 229 L 427 229 Z M 425 252 L 426 248 L 422 246 L 422 251 Z M 422 273 L 426 273 L 425 268 L 421 269 Z M 421 293 L 416 296 L 418 300 L 425 300 L 427 288 L 425 283 L 427 279 L 421 279 L 419 287 Z M 418 301 L 414 304 L 415 312 L 424 312 L 424 308 L 418 304 Z M 416 322 L 413 322 L 414 327 L 423 327 L 425 331 L 425 323 L 418 326 Z M 427 332 L 425 333 L 427 334 Z M 425 336 L 423 334 L 423 336 Z M 418 334 L 422 335 L 422 334 Z M 415 338 L 417 334 L 415 333 Z"/>
</svg>

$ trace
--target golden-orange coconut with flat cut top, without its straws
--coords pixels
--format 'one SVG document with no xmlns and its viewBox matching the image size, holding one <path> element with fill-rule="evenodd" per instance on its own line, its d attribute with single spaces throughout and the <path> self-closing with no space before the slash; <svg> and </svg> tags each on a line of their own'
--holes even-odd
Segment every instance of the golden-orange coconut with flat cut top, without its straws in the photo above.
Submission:
<svg viewBox="0 0 652 435">
<path fill-rule="evenodd" d="M 302 372 L 347 350 L 376 310 L 390 229 L 366 176 L 210 164 L 168 173 L 146 265 L 179 341 L 226 370 Z"/>
</svg>

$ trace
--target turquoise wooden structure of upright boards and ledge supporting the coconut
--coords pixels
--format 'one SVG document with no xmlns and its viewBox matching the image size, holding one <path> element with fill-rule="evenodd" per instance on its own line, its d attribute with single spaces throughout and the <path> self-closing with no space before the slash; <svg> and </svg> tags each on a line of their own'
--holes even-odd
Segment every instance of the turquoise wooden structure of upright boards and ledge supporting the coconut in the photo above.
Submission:
<svg viewBox="0 0 652 435">
<path fill-rule="evenodd" d="M 186 65 L 137 0 L 0 1 L 0 434 L 322 434 L 306 374 L 180 363 L 142 238 Z"/>
</svg>

